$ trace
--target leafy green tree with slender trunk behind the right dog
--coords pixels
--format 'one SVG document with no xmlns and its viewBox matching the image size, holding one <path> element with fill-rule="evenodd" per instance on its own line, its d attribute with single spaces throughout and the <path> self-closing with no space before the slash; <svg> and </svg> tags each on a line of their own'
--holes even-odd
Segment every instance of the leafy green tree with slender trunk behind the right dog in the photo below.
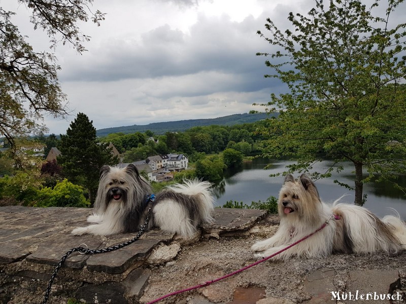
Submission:
<svg viewBox="0 0 406 304">
<path fill-rule="evenodd" d="M 319 0 L 307 16 L 289 14 L 293 29 L 282 32 L 267 19 L 275 48 L 265 75 L 287 84 L 289 93 L 272 94 L 268 111 L 280 110 L 263 134 L 269 138 L 265 156 L 292 156 L 289 172 L 309 171 L 312 164 L 332 159 L 336 168 L 313 173 L 329 177 L 355 168 L 355 203 L 363 204 L 363 184 L 387 179 L 406 168 L 406 23 L 391 27 L 391 14 L 402 1 L 385 10 L 375 1 L 370 9 L 358 0 Z M 404 8 L 403 8 L 404 9 Z M 401 9 L 399 9 L 401 11 Z M 373 13 L 383 12 L 384 16 Z M 367 174 L 364 174 L 366 169 Z"/>
</svg>

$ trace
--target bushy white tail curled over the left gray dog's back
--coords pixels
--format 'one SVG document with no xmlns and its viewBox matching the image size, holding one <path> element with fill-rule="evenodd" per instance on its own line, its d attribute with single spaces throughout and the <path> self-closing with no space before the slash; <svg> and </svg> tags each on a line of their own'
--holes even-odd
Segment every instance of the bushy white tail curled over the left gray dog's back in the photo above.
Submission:
<svg viewBox="0 0 406 304">
<path fill-rule="evenodd" d="M 200 222 L 213 221 L 212 212 L 214 209 L 214 196 L 211 189 L 212 184 L 208 181 L 198 179 L 183 180 L 182 184 L 174 184 L 167 187 L 176 193 L 181 193 L 197 198 L 197 206 Z"/>
</svg>

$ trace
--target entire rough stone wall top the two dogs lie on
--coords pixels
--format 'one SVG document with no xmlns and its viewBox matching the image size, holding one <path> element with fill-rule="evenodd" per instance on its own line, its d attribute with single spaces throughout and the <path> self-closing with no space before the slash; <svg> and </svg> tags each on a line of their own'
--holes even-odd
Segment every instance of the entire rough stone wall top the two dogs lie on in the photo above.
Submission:
<svg viewBox="0 0 406 304">
<path fill-rule="evenodd" d="M 103 248 L 133 237 L 71 236 L 75 226 L 86 224 L 90 213 L 80 208 L 0 207 L 0 303 L 41 303 L 54 265 L 65 251 L 81 243 L 91 249 Z M 202 236 L 193 240 L 153 230 L 110 253 L 73 254 L 59 270 L 48 303 L 76 298 L 87 303 L 145 304 L 255 262 L 251 245 L 278 229 L 278 217 L 265 216 L 260 210 L 216 209 L 214 218 L 214 223 L 202 226 Z M 150 263 L 154 255 L 160 259 Z M 405 291 L 406 251 L 336 254 L 325 259 L 266 261 L 159 303 L 400 304 L 406 302 Z M 400 299 L 344 299 L 349 292 L 352 297 L 375 292 Z M 333 298 L 333 293 L 342 298 Z"/>
</svg>

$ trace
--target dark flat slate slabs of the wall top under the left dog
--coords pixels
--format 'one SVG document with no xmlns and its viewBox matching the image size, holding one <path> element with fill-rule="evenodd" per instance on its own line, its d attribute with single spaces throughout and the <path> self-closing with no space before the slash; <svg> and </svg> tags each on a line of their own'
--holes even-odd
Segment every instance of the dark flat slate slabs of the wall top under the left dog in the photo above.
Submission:
<svg viewBox="0 0 406 304">
<path fill-rule="evenodd" d="M 92 209 L 88 208 L 0 207 L 0 302 L 41 302 L 54 266 L 67 251 L 81 244 L 89 249 L 105 248 L 134 237 L 135 234 L 71 235 L 74 227 L 88 224 L 86 217 L 91 213 Z M 265 213 L 216 208 L 214 222 L 204 225 L 202 231 L 214 236 L 238 235 L 250 229 Z M 98 303 L 138 303 L 149 280 L 150 264 L 146 260 L 153 249 L 174 241 L 180 248 L 190 246 L 199 240 L 200 234 L 187 242 L 174 237 L 155 229 L 112 252 L 73 253 L 62 265 L 48 303 L 59 304 L 63 302 L 61 299 L 69 297 Z M 159 263 L 159 260 L 153 262 Z"/>
</svg>

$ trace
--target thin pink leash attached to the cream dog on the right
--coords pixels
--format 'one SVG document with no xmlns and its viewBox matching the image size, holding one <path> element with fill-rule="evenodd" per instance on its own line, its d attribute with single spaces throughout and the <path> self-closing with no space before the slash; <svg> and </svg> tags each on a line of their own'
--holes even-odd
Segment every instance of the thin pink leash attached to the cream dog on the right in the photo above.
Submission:
<svg viewBox="0 0 406 304">
<path fill-rule="evenodd" d="M 334 215 L 333 215 L 333 216 L 334 216 Z M 335 219 L 339 219 L 340 217 L 337 218 L 336 216 L 334 216 L 334 218 L 335 218 Z M 178 290 L 178 291 L 174 291 L 174 292 L 165 294 L 165 295 L 161 296 L 160 298 L 157 298 L 157 299 L 155 299 L 155 300 L 153 300 L 153 301 L 151 301 L 151 302 L 148 302 L 147 304 L 153 304 L 153 303 L 159 302 L 160 300 L 163 300 L 163 299 L 165 299 L 165 298 L 167 298 L 167 297 L 170 297 L 170 296 L 173 296 L 173 295 L 176 295 L 176 294 L 179 294 L 179 293 L 183 293 L 183 292 L 186 292 L 186 291 L 191 291 L 191 290 L 194 290 L 194 289 L 198 289 L 198 288 L 200 288 L 200 287 L 209 286 L 210 284 L 213 284 L 213 283 L 216 283 L 216 282 L 218 282 L 218 281 L 227 279 L 227 278 L 229 278 L 229 277 L 231 277 L 231 276 L 233 276 L 233 275 L 239 274 L 239 273 L 241 273 L 241 272 L 243 272 L 243 271 L 245 271 L 245 270 L 247 270 L 247 269 L 250 269 L 251 267 L 254 267 L 254 266 L 258 265 L 259 263 L 262 263 L 262 262 L 264 262 L 264 261 L 266 261 L 266 260 L 268 260 L 268 259 L 274 257 L 275 255 L 278 255 L 278 254 L 280 254 L 280 253 L 282 253 L 282 252 L 288 250 L 289 248 L 291 248 L 291 247 L 293 247 L 293 246 L 299 244 L 300 242 L 306 240 L 307 238 L 310 238 L 312 235 L 314 235 L 315 233 L 317 233 L 317 232 L 319 232 L 320 230 L 322 230 L 325 226 L 327 226 L 329 220 L 330 220 L 330 219 L 328 219 L 327 221 L 325 221 L 325 222 L 321 225 L 321 227 L 320 227 L 319 229 L 317 229 L 315 232 L 311 233 L 310 235 L 308 235 L 308 236 L 306 236 L 306 237 L 304 237 L 304 238 L 302 238 L 302 239 L 300 239 L 300 240 L 298 240 L 298 241 L 296 241 L 296 242 L 290 244 L 289 246 L 283 248 L 282 250 L 280 250 L 280 251 L 278 251 L 278 252 L 276 252 L 276 253 L 274 253 L 274 254 L 272 254 L 272 255 L 269 255 L 269 256 L 267 256 L 267 257 L 265 257 L 265 258 L 263 258 L 263 259 L 261 259 L 261 260 L 259 260 L 259 261 L 256 261 L 255 263 L 249 264 L 249 265 L 247 265 L 246 267 L 244 267 L 244 268 L 242 268 L 242 269 L 236 270 L 236 271 L 234 271 L 234 272 L 232 272 L 232 273 L 229 273 L 228 275 L 222 276 L 222 277 L 220 277 L 220 278 L 218 278 L 218 279 L 214 279 L 214 280 L 211 280 L 211 281 L 207 281 L 207 282 L 204 282 L 204 283 L 200 283 L 199 285 L 196 285 L 196 286 L 188 287 L 188 288 L 185 288 L 185 289 L 182 289 L 182 290 Z"/>
</svg>

